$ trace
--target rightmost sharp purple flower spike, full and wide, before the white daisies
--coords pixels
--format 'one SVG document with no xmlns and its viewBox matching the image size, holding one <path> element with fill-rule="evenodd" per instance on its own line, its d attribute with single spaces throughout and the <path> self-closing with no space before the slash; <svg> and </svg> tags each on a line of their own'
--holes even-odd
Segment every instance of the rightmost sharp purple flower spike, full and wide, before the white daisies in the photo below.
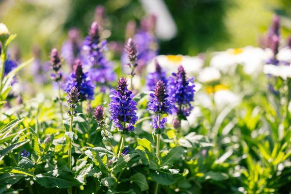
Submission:
<svg viewBox="0 0 291 194">
<path fill-rule="evenodd" d="M 193 107 L 191 102 L 194 101 L 194 78 L 187 78 L 186 72 L 182 65 L 178 67 L 178 73 L 173 73 L 167 84 L 169 99 L 175 103 L 174 110 L 180 119 L 186 119 Z"/>
</svg>

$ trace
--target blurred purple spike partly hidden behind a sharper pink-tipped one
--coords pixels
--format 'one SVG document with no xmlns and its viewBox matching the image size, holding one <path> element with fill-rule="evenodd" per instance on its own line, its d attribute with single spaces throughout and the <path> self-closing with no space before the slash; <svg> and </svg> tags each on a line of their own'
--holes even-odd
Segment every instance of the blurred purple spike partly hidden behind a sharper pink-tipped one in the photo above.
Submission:
<svg viewBox="0 0 291 194">
<path fill-rule="evenodd" d="M 165 84 L 167 84 L 166 72 L 162 69 L 157 60 L 155 60 L 156 71 L 149 73 L 146 76 L 146 85 L 150 90 L 155 89 L 155 85 L 159 80 L 162 80 Z"/>
</svg>

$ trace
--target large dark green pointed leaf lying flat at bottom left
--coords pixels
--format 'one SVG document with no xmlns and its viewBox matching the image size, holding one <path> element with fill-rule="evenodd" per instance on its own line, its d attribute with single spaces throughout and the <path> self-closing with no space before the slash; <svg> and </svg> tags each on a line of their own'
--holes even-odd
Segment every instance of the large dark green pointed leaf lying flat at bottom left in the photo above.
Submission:
<svg viewBox="0 0 291 194">
<path fill-rule="evenodd" d="M 63 172 L 48 172 L 36 175 L 36 182 L 46 188 L 60 188 L 65 189 L 72 186 L 82 185 L 77 179 L 69 176 Z"/>
</svg>

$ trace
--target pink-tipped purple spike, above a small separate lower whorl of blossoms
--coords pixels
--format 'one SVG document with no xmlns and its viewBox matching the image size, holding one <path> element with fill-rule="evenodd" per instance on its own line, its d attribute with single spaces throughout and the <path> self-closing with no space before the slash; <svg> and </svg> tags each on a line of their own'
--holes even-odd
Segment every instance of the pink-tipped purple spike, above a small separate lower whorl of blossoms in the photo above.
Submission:
<svg viewBox="0 0 291 194">
<path fill-rule="evenodd" d="M 162 80 L 157 82 L 154 93 L 151 93 L 149 96 L 150 99 L 147 104 L 147 110 L 153 111 L 154 113 L 172 114 L 172 105 L 167 99 L 169 95 L 166 94 L 166 87 Z"/>
</svg>

